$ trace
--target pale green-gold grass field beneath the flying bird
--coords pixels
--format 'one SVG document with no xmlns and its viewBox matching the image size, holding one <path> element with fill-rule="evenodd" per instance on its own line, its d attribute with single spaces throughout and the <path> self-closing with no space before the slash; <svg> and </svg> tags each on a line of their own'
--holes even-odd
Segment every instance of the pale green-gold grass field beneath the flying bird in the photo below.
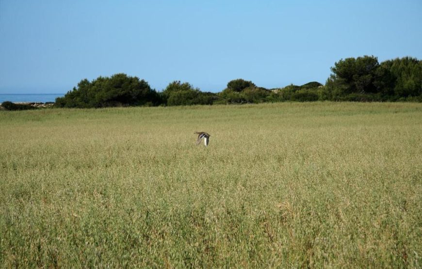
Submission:
<svg viewBox="0 0 422 269">
<path fill-rule="evenodd" d="M 0 111 L 0 125 L 2 267 L 422 266 L 422 104 Z"/>
</svg>

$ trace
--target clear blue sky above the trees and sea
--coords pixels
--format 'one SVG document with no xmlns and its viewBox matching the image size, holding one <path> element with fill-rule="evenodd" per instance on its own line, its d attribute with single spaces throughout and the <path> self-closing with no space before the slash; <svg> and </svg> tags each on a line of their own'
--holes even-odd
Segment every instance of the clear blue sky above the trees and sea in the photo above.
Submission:
<svg viewBox="0 0 422 269">
<path fill-rule="evenodd" d="M 126 73 L 219 92 L 325 83 L 340 59 L 422 59 L 422 0 L 0 0 L 0 93 Z"/>
</svg>

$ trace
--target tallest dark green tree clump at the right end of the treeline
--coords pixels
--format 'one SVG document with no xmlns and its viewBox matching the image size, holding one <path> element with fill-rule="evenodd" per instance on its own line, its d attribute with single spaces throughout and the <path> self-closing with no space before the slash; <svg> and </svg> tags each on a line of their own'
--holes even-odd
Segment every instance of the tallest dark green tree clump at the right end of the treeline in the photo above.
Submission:
<svg viewBox="0 0 422 269">
<path fill-rule="evenodd" d="M 422 61 L 397 58 L 378 63 L 374 56 L 335 63 L 321 99 L 347 101 L 421 100 Z"/>
</svg>

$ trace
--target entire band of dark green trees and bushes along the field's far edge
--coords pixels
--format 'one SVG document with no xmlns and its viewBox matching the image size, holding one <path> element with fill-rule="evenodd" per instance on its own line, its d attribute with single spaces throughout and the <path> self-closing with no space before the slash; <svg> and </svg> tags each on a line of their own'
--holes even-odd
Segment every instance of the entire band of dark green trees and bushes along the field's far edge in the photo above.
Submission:
<svg viewBox="0 0 422 269">
<path fill-rule="evenodd" d="M 201 92 L 188 82 L 173 81 L 162 92 L 145 80 L 116 74 L 93 81 L 81 80 L 56 106 L 99 108 L 109 106 L 180 106 L 245 104 L 318 100 L 331 101 L 422 101 L 422 61 L 397 58 L 378 62 L 374 56 L 341 59 L 331 67 L 325 85 L 312 81 L 268 90 L 252 81 L 233 79 L 220 93 Z"/>
</svg>

